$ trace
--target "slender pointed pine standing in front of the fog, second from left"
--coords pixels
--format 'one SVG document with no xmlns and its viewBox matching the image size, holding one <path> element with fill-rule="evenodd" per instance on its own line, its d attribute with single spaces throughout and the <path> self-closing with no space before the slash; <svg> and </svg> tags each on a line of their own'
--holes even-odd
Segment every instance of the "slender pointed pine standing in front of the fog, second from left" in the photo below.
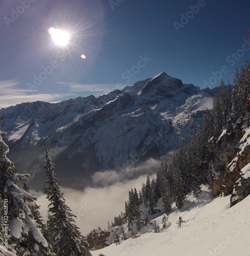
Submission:
<svg viewBox="0 0 250 256">
<path fill-rule="evenodd" d="M 71 209 L 66 205 L 63 194 L 58 186 L 58 180 L 53 169 L 54 164 L 49 157 L 49 152 L 45 150 L 45 176 L 47 177 L 47 187 L 44 189 L 48 205 L 47 227 L 51 233 L 51 243 L 58 256 L 90 256 L 87 242 L 75 224 Z"/>
</svg>

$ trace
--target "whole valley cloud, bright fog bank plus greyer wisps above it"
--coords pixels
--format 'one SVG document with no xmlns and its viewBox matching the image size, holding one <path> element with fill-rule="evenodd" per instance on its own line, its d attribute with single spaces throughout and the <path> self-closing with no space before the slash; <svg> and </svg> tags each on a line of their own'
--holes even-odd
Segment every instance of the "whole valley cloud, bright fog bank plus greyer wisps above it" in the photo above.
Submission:
<svg viewBox="0 0 250 256">
<path fill-rule="evenodd" d="M 87 187 L 84 190 L 61 188 L 66 204 L 77 216 L 76 224 L 84 236 L 98 226 L 107 229 L 108 221 L 111 223 L 114 216 L 124 211 L 124 202 L 128 200 L 129 190 L 136 188 L 139 191 L 142 182 L 146 182 L 147 174 L 151 175 L 151 178 L 155 177 L 161 162 L 168 162 L 170 159 L 171 154 L 168 154 L 160 160 L 148 159 L 138 167 L 124 168 L 122 172 L 97 172 L 92 177 L 96 187 Z M 48 200 L 43 193 L 33 193 L 38 197 L 41 215 L 46 221 Z"/>
</svg>

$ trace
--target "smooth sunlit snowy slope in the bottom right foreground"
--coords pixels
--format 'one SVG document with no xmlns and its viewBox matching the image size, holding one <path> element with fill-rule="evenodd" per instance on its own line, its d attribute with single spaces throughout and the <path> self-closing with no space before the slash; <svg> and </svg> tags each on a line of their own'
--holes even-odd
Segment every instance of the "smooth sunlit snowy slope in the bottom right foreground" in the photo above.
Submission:
<svg viewBox="0 0 250 256">
<path fill-rule="evenodd" d="M 213 199 L 207 187 L 201 197 L 187 197 L 184 208 L 176 208 L 168 218 L 170 227 L 161 233 L 145 233 L 120 245 L 93 251 L 97 256 L 245 256 L 250 255 L 250 196 L 229 208 L 230 197 Z M 179 229 L 177 220 L 186 223 Z M 156 218 L 162 227 L 163 216 Z"/>
</svg>

